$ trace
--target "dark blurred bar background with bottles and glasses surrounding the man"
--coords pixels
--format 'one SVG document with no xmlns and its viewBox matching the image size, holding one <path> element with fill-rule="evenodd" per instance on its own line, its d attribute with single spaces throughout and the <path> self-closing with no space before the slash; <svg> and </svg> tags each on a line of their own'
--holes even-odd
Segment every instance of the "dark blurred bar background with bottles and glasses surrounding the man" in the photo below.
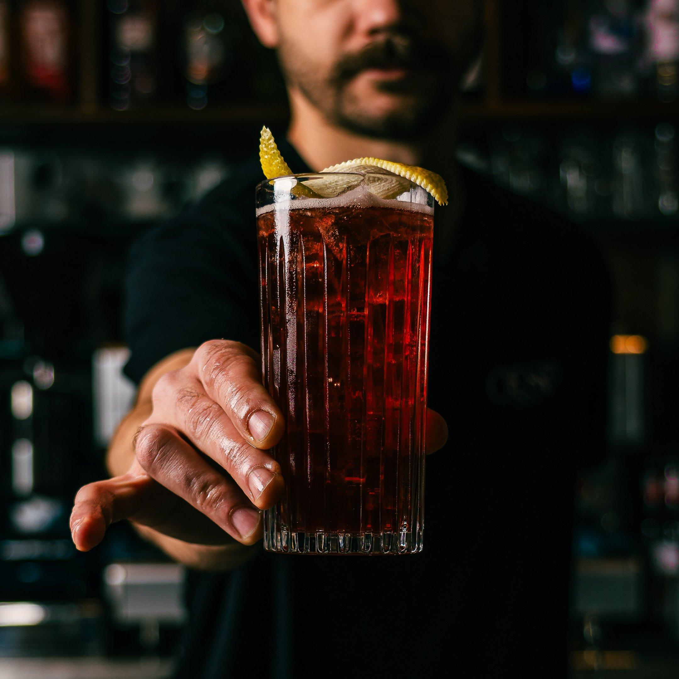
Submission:
<svg viewBox="0 0 679 679">
<path fill-rule="evenodd" d="M 573 676 L 676 678 L 679 0 L 486 5 L 460 161 L 582 223 L 614 286 L 608 456 L 576 498 Z M 130 242 L 286 115 L 236 0 L 0 0 L 3 679 L 168 676 L 183 572 L 123 525 L 76 553 L 71 500 L 134 395 Z"/>
</svg>

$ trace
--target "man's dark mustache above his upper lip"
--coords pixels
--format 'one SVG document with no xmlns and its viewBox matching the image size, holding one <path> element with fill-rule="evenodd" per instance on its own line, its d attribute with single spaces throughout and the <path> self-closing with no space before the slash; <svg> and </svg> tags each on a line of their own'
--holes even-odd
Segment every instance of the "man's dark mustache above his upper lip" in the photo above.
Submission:
<svg viewBox="0 0 679 679">
<path fill-rule="evenodd" d="M 448 52 L 437 43 L 410 35 L 390 35 L 346 54 L 335 65 L 331 77 L 342 83 L 367 69 L 427 69 L 447 71 L 452 64 Z"/>
</svg>

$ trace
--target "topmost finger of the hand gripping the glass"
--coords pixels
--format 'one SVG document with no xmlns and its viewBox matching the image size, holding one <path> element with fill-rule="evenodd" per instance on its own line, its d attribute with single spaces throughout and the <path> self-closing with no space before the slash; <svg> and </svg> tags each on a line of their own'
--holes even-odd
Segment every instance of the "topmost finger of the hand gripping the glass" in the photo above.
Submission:
<svg viewBox="0 0 679 679">
<path fill-rule="evenodd" d="M 267 450 L 283 435 L 280 409 L 261 382 L 257 354 L 240 342 L 215 340 L 194 354 L 198 378 L 246 441 Z"/>
</svg>

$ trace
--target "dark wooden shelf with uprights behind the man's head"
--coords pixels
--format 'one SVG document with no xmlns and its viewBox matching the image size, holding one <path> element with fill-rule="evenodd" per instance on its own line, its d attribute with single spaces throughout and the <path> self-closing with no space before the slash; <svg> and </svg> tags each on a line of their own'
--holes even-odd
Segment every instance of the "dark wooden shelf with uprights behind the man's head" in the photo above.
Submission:
<svg viewBox="0 0 679 679">
<path fill-rule="evenodd" d="M 507 35 L 503 34 L 507 7 L 504 0 L 485 2 L 485 90 L 480 100 L 466 100 L 460 112 L 465 127 L 504 121 L 536 124 L 570 122 L 655 122 L 679 117 L 679 102 L 663 105 L 647 100 L 513 100 L 507 99 L 504 81 L 507 71 Z M 181 103 L 157 105 L 139 111 L 113 111 L 102 103 L 104 84 L 100 41 L 105 10 L 92 0 L 77 0 L 79 7 L 77 103 L 71 107 L 50 105 L 8 105 L 0 103 L 0 135 L 32 134 L 33 130 L 81 126 L 254 126 L 285 124 L 287 107 L 281 102 L 234 102 L 209 105 L 192 111 Z M 244 26 L 245 28 L 245 26 Z M 192 134 L 193 132 L 191 132 Z"/>
</svg>

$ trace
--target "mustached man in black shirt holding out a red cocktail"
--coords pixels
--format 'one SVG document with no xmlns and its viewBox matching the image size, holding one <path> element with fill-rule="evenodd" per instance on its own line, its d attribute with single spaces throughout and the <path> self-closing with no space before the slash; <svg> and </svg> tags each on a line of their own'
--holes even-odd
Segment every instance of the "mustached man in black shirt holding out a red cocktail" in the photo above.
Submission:
<svg viewBox="0 0 679 679">
<path fill-rule="evenodd" d="M 182 677 L 566 674 L 576 467 L 603 447 L 608 288 L 575 227 L 454 164 L 454 94 L 481 2 L 244 0 L 276 48 L 297 172 L 358 156 L 447 180 L 437 210 L 424 552 L 281 557 L 259 510 L 285 428 L 261 385 L 252 162 L 139 242 L 128 375 L 140 384 L 83 488 L 79 549 L 129 519 L 193 574 Z M 253 139 L 253 145 L 256 140 Z M 254 149 L 253 149 L 254 151 Z M 225 338 L 225 339 L 221 339 Z M 430 412 L 428 443 L 445 422 Z"/>
</svg>

